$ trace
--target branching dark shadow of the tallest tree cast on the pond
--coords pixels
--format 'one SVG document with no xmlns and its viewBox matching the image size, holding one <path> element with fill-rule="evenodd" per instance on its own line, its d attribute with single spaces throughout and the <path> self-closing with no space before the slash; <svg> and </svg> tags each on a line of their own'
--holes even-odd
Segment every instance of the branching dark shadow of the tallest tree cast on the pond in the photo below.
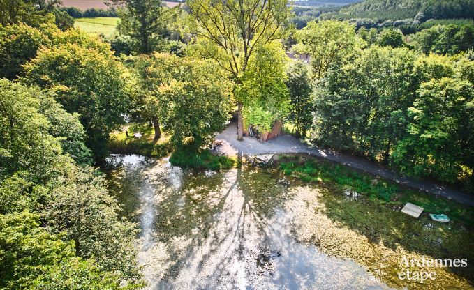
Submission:
<svg viewBox="0 0 474 290">
<path fill-rule="evenodd" d="M 232 275 L 232 265 L 244 262 L 245 252 L 268 238 L 269 220 L 287 198 L 287 188 L 266 169 L 184 174 L 182 188 L 156 206 L 156 238 L 167 245 L 170 259 L 165 282 L 176 282 L 188 268 L 188 276 L 207 277 L 199 282 L 187 277 L 194 287 L 216 287 L 221 277 Z"/>
</svg>

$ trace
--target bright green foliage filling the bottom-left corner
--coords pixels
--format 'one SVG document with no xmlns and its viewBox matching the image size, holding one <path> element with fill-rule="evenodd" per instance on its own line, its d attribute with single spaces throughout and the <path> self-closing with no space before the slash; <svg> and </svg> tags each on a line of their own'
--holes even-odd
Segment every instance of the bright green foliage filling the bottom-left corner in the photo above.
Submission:
<svg viewBox="0 0 474 290">
<path fill-rule="evenodd" d="M 1 289 L 119 288 L 115 275 L 75 257 L 72 243 L 39 225 L 39 216 L 28 211 L 0 215 Z"/>
</svg>

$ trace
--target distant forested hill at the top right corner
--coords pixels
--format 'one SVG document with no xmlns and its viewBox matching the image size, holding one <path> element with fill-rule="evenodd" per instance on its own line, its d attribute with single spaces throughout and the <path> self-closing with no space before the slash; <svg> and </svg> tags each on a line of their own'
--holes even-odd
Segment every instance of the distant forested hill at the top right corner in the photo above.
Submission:
<svg viewBox="0 0 474 290">
<path fill-rule="evenodd" d="M 325 13 L 323 18 L 371 18 L 373 20 L 404 20 L 473 18 L 474 0 L 365 0 Z"/>
</svg>

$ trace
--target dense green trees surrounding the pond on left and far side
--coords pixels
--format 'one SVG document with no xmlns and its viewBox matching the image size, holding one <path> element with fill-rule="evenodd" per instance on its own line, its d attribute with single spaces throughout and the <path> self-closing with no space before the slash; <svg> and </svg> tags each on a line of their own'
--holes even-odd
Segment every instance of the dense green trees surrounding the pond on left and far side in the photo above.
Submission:
<svg viewBox="0 0 474 290">
<path fill-rule="evenodd" d="M 0 289 L 142 287 L 136 225 L 96 167 L 130 120 L 149 121 L 142 148 L 174 165 L 232 166 L 208 146 L 235 114 L 239 128 L 281 120 L 312 144 L 474 191 L 470 20 L 409 34 L 339 20 L 296 29 L 283 0 L 116 2 L 110 38 L 74 29 L 73 10 L 54 3 L 2 2 Z M 327 15 L 468 18 L 473 7 L 367 0 Z"/>
</svg>

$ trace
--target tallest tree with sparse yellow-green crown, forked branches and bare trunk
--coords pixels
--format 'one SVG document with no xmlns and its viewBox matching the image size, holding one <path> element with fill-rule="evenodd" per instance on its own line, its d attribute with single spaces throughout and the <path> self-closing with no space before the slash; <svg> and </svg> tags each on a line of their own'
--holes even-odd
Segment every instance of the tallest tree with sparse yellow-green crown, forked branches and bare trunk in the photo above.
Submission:
<svg viewBox="0 0 474 290">
<path fill-rule="evenodd" d="M 249 59 L 257 47 L 281 38 L 290 15 L 287 0 L 189 0 L 195 33 L 202 38 L 205 56 L 227 70 L 237 86 L 242 84 Z M 238 134 L 242 139 L 243 100 L 237 97 Z"/>
</svg>

